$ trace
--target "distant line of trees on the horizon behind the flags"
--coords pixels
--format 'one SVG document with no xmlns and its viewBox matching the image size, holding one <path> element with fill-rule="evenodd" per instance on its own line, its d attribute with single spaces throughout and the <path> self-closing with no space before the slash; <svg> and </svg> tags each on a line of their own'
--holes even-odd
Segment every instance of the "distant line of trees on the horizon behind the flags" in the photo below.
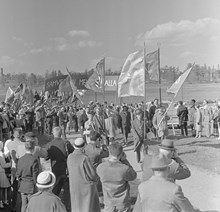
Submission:
<svg viewBox="0 0 220 212">
<path fill-rule="evenodd" d="M 192 64 L 188 63 L 187 67 L 191 67 Z M 182 74 L 179 67 L 175 66 L 164 66 L 160 68 L 161 70 L 161 82 L 170 83 L 175 82 L 175 80 Z M 85 69 L 81 74 L 86 74 L 88 77 L 92 74 L 93 69 Z M 106 75 L 120 75 L 121 69 L 117 71 L 112 71 L 111 68 L 105 70 Z M 57 77 L 60 75 L 66 75 L 66 71 L 61 70 L 46 70 L 45 74 L 35 74 L 35 73 L 8 73 L 4 76 L 5 86 L 7 84 L 19 85 L 21 83 L 26 83 L 31 87 L 41 87 L 45 83 L 45 79 Z M 209 82 L 220 82 L 220 65 L 216 67 L 210 67 L 206 64 L 198 65 L 195 64 L 193 70 L 187 78 L 188 83 L 209 83 Z"/>
</svg>

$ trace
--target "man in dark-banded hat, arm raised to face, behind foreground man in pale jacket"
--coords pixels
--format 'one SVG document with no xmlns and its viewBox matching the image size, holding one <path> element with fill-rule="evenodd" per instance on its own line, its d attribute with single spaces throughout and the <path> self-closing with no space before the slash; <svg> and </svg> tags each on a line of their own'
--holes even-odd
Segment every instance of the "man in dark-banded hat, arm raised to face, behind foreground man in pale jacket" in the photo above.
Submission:
<svg viewBox="0 0 220 212">
<path fill-rule="evenodd" d="M 191 176 L 189 168 L 178 156 L 172 140 L 165 139 L 159 146 L 160 155 L 164 156 L 169 162 L 169 180 L 175 182 L 175 180 L 183 180 Z M 151 157 L 144 158 L 143 161 L 143 181 L 148 180 L 152 174 L 149 164 Z"/>
</svg>

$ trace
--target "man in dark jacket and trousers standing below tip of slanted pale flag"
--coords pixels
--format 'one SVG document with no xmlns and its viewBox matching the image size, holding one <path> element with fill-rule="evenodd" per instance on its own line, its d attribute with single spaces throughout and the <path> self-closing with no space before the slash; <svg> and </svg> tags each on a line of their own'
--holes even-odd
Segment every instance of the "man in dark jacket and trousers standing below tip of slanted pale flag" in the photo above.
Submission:
<svg viewBox="0 0 220 212">
<path fill-rule="evenodd" d="M 179 126 L 181 129 L 181 134 L 187 136 L 188 130 L 187 130 L 187 121 L 188 121 L 188 109 L 183 105 L 182 101 L 179 101 L 179 106 L 177 108 L 177 116 L 179 117 Z"/>
</svg>

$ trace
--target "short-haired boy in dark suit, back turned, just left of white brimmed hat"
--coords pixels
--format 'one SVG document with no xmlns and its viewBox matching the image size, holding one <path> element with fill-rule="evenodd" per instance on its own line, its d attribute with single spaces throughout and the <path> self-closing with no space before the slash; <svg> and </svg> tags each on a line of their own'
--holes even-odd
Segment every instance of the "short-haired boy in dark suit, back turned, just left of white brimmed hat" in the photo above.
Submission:
<svg viewBox="0 0 220 212">
<path fill-rule="evenodd" d="M 32 156 L 34 152 L 35 141 L 25 142 L 26 153 L 18 160 L 16 177 L 18 179 L 18 192 L 21 194 L 21 212 L 26 211 L 28 200 L 36 192 L 37 175 L 39 167 L 37 160 Z"/>
</svg>

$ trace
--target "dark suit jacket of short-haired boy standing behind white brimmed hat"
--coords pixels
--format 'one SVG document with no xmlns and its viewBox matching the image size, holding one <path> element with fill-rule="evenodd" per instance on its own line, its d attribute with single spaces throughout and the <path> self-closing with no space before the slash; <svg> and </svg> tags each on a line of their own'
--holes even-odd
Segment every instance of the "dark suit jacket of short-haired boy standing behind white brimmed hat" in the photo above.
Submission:
<svg viewBox="0 0 220 212">
<path fill-rule="evenodd" d="M 36 191 L 39 167 L 37 160 L 31 154 L 25 154 L 18 160 L 16 176 L 19 181 L 18 191 L 33 194 Z"/>
</svg>

